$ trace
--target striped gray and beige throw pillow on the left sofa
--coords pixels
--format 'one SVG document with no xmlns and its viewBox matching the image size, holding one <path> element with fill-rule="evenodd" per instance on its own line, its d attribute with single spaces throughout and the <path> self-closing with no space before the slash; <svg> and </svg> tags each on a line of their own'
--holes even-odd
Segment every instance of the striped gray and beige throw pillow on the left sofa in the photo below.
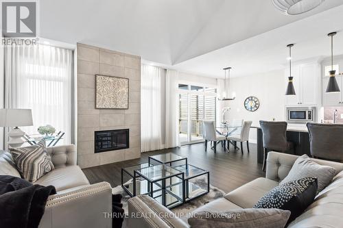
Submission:
<svg viewBox="0 0 343 228">
<path fill-rule="evenodd" d="M 10 152 L 21 176 L 30 182 L 37 181 L 54 169 L 54 164 L 45 149 L 45 140 L 31 147 L 11 148 Z"/>
</svg>

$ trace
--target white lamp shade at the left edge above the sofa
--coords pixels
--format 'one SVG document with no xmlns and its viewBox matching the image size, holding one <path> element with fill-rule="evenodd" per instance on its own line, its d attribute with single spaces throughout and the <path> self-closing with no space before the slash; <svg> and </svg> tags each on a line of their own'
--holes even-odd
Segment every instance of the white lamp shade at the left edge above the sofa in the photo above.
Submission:
<svg viewBox="0 0 343 228">
<path fill-rule="evenodd" d="M 24 127 L 34 125 L 32 111 L 27 109 L 1 109 L 1 127 Z"/>
</svg>

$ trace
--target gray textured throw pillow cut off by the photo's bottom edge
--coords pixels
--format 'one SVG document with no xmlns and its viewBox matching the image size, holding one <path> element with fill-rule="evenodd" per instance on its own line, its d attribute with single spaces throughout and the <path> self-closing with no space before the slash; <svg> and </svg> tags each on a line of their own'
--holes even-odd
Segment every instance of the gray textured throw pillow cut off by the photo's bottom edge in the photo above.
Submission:
<svg viewBox="0 0 343 228">
<path fill-rule="evenodd" d="M 279 209 L 236 209 L 198 212 L 188 219 L 196 228 L 284 228 L 291 212 Z"/>
</svg>

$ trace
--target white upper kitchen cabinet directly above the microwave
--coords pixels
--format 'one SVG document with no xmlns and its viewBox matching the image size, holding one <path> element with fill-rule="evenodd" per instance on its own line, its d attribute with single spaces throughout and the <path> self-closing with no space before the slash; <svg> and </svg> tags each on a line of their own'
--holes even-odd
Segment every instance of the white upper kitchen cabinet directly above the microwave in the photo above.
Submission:
<svg viewBox="0 0 343 228">
<path fill-rule="evenodd" d="M 289 75 L 289 70 L 286 70 L 286 75 Z M 297 64 L 292 68 L 292 76 L 296 95 L 285 96 L 285 105 L 318 105 L 320 65 L 318 63 Z"/>
</svg>

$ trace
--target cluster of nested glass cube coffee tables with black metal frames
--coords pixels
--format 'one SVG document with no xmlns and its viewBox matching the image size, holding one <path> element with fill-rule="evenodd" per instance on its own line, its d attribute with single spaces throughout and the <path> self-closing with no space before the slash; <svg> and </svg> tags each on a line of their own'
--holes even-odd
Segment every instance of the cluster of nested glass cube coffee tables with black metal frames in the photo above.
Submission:
<svg viewBox="0 0 343 228">
<path fill-rule="evenodd" d="M 131 197 L 147 194 L 172 208 L 209 192 L 209 171 L 174 153 L 150 156 L 147 163 L 121 169 L 121 186 Z"/>
</svg>

